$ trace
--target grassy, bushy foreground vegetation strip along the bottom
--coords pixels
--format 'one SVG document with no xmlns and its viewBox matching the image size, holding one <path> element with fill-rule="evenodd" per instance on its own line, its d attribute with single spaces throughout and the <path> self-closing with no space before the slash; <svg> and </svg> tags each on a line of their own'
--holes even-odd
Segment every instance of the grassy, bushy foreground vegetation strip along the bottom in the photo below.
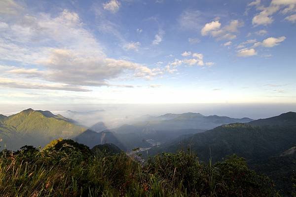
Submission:
<svg viewBox="0 0 296 197">
<path fill-rule="evenodd" d="M 102 151 L 103 150 L 103 151 Z M 72 140 L 41 150 L 0 152 L 1 197 L 277 197 L 274 184 L 235 155 L 203 164 L 185 152 L 163 153 L 143 166 Z"/>
</svg>

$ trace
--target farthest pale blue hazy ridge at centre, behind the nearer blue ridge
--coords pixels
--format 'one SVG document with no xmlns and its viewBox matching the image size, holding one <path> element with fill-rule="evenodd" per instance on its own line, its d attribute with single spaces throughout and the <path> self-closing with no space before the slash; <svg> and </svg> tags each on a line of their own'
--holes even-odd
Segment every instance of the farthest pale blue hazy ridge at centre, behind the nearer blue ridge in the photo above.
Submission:
<svg viewBox="0 0 296 197">
<path fill-rule="evenodd" d="M 250 118 L 230 118 L 227 116 L 210 115 L 200 113 L 167 113 L 160 116 L 145 116 L 142 121 L 133 125 L 123 125 L 116 129 L 118 133 L 153 132 L 155 130 L 181 130 L 201 129 L 208 130 L 229 123 L 246 123 Z"/>
</svg>

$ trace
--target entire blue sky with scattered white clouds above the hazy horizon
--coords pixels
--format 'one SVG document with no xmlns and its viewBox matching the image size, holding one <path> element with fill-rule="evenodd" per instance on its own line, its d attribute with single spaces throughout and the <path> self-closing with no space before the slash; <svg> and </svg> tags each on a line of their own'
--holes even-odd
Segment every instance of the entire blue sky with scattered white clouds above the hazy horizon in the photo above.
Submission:
<svg viewBox="0 0 296 197">
<path fill-rule="evenodd" d="M 296 0 L 1 0 L 0 102 L 295 103 Z"/>
</svg>

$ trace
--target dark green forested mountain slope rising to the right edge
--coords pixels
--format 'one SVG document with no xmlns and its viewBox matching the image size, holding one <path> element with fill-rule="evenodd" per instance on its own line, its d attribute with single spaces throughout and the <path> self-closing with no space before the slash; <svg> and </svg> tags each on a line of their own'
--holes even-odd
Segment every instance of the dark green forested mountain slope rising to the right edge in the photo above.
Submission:
<svg viewBox="0 0 296 197">
<path fill-rule="evenodd" d="M 154 146 L 149 155 L 189 150 L 204 162 L 221 161 L 236 154 L 247 159 L 251 168 L 269 175 L 278 189 L 291 191 L 291 176 L 296 169 L 296 113 L 259 119 L 250 123 L 222 125 L 212 130 Z"/>
</svg>

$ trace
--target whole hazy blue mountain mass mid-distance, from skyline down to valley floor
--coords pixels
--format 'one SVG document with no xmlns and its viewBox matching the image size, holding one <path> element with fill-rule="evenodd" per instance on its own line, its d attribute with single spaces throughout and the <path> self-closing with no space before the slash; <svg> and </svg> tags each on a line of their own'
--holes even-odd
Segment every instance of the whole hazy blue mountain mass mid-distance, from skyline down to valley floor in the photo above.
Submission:
<svg viewBox="0 0 296 197">
<path fill-rule="evenodd" d="M 148 146 L 146 141 L 151 145 L 162 144 L 173 141 L 181 135 L 201 133 L 222 124 L 250 121 L 252 121 L 250 118 L 204 116 L 201 113 L 167 113 L 160 116 L 141 116 L 136 119 L 136 123 L 122 125 L 114 129 L 114 132 L 116 135 L 121 135 L 119 139 L 123 139 L 126 144 L 129 144 L 128 147 L 133 149 L 138 144 L 143 148 Z M 126 136 L 131 136 L 131 138 L 125 140 Z"/>
</svg>

